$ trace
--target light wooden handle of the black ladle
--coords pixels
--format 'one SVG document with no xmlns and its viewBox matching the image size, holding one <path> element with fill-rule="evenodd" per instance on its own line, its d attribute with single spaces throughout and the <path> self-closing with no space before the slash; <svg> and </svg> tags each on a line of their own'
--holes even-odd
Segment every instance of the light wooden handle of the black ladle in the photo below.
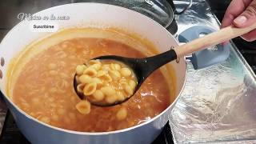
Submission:
<svg viewBox="0 0 256 144">
<path fill-rule="evenodd" d="M 174 50 L 177 54 L 177 58 L 181 58 L 187 54 L 192 54 L 198 50 L 205 49 L 209 46 L 214 46 L 219 43 L 226 42 L 231 38 L 241 36 L 242 34 L 246 34 L 254 29 L 256 29 L 256 22 L 253 25 L 245 28 L 228 26 L 222 30 L 207 34 L 202 38 L 197 38 L 194 41 L 186 43 L 185 45 L 178 46 Z"/>
</svg>

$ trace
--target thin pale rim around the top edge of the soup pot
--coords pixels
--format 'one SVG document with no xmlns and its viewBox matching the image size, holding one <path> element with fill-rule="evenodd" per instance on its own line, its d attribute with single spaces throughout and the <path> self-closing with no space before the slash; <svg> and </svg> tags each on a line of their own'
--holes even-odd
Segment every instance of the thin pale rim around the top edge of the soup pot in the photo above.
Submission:
<svg viewBox="0 0 256 144">
<path fill-rule="evenodd" d="M 50 8 L 48 8 L 48 9 L 38 11 L 38 12 L 35 13 L 35 14 L 42 13 L 42 12 L 45 12 L 45 11 L 50 10 L 50 9 L 56 9 L 56 8 L 62 7 L 62 6 L 84 5 L 84 4 L 86 4 L 86 5 L 99 5 L 99 6 L 113 6 L 113 7 L 118 7 L 118 8 L 126 9 L 126 10 L 128 10 L 128 11 L 135 12 L 135 13 L 137 13 L 137 14 L 140 14 L 140 13 L 138 13 L 137 11 L 130 10 L 130 9 L 125 8 L 125 7 L 122 7 L 122 6 L 114 6 L 114 5 L 110 5 L 110 4 L 96 3 L 96 2 L 69 3 L 69 4 L 60 5 L 60 6 L 53 6 L 53 7 L 50 7 Z M 164 26 L 160 25 L 158 22 L 155 22 L 153 19 L 146 17 L 146 15 L 144 15 L 144 14 L 141 14 L 141 16 L 144 17 L 144 18 L 146 18 L 146 19 L 148 19 L 148 20 L 151 21 L 151 22 L 154 22 L 155 25 L 161 26 L 161 28 L 164 29 L 164 30 L 167 32 L 167 34 L 170 34 L 170 32 L 169 32 L 168 30 L 166 30 L 166 28 L 165 28 Z M 22 25 L 22 23 L 23 23 L 23 21 L 22 21 L 22 22 L 19 22 L 16 26 L 14 26 L 14 27 L 6 34 L 6 36 L 2 39 L 2 42 L 6 39 L 6 37 L 7 37 L 8 35 L 10 35 L 10 33 L 11 33 L 14 29 L 17 29 L 18 26 Z M 171 36 L 172 38 L 174 38 L 174 36 L 173 36 L 172 34 L 170 34 L 170 36 Z M 178 45 L 178 41 L 177 41 L 175 38 L 174 38 L 174 41 L 175 41 L 175 42 L 177 43 L 177 45 Z M 1 46 L 2 42 L 0 43 L 0 46 Z M 38 119 L 31 117 L 29 114 L 26 114 L 25 111 L 21 110 L 16 104 L 14 104 L 14 102 L 12 102 L 12 101 L 10 100 L 10 97 L 6 96 L 6 94 L 4 94 L 4 93 L 2 93 L 2 95 L 6 98 L 6 100 L 7 100 L 8 102 L 10 102 L 10 104 L 11 104 L 12 106 L 14 106 L 14 108 L 15 108 L 16 110 L 18 110 L 19 112 L 21 112 L 22 114 L 24 114 L 24 115 L 26 116 L 26 118 L 30 118 L 30 120 L 32 120 L 32 121 L 34 121 L 34 122 L 38 122 L 38 123 L 42 124 L 43 126 L 47 126 L 47 127 L 52 128 L 52 129 L 54 129 L 54 130 L 59 130 L 59 131 L 66 132 L 66 133 L 70 133 L 70 134 L 95 135 L 95 136 L 97 136 L 97 135 L 105 135 L 105 134 L 118 134 L 118 133 L 126 132 L 126 131 L 129 131 L 129 130 L 134 130 L 134 129 L 136 129 L 136 128 L 138 128 L 138 127 L 141 127 L 141 126 L 146 126 L 148 123 L 153 122 L 155 119 L 159 118 L 162 114 L 165 114 L 167 110 L 170 110 L 170 109 L 172 109 L 172 108 L 174 107 L 174 104 L 178 101 L 178 98 L 181 96 L 182 91 L 183 91 L 183 89 L 184 89 L 184 87 L 185 87 L 185 84 L 186 84 L 186 78 L 187 78 L 187 63 L 186 63 L 186 58 L 185 58 L 185 57 L 183 57 L 182 59 L 185 61 L 185 66 L 186 66 L 186 67 L 185 67 L 185 69 L 186 69 L 185 79 L 184 79 L 184 82 L 183 82 L 183 85 L 182 85 L 182 89 L 179 91 L 178 96 L 175 98 L 174 102 L 170 103 L 170 106 L 166 107 L 165 110 L 163 110 L 160 114 L 158 114 L 158 115 L 155 116 L 154 118 L 151 118 L 150 120 L 148 120 L 148 121 L 146 121 L 146 122 L 143 122 L 143 123 L 141 123 L 141 124 L 138 124 L 138 125 L 136 125 L 136 126 L 128 127 L 128 128 L 126 128 L 126 129 L 122 129 L 122 130 L 114 130 L 114 131 L 108 131 L 108 132 L 82 132 L 82 131 L 75 131 L 75 130 L 66 130 L 66 129 L 59 128 L 59 127 L 57 127 L 57 126 L 51 126 L 50 124 L 46 124 L 46 123 L 44 123 L 44 122 L 41 122 L 41 121 L 39 121 Z M 2 92 L 3 90 L 0 90 L 0 91 Z"/>
</svg>

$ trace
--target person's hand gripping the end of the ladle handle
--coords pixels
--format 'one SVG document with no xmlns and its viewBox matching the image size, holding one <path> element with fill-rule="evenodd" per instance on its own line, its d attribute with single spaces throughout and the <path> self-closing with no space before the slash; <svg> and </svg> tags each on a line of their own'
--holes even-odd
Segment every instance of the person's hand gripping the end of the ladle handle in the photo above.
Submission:
<svg viewBox="0 0 256 144">
<path fill-rule="evenodd" d="M 256 22 L 256 0 L 233 0 L 222 20 L 222 28 L 230 25 L 236 27 L 250 26 Z M 248 42 L 256 40 L 256 30 L 241 36 Z"/>
</svg>

